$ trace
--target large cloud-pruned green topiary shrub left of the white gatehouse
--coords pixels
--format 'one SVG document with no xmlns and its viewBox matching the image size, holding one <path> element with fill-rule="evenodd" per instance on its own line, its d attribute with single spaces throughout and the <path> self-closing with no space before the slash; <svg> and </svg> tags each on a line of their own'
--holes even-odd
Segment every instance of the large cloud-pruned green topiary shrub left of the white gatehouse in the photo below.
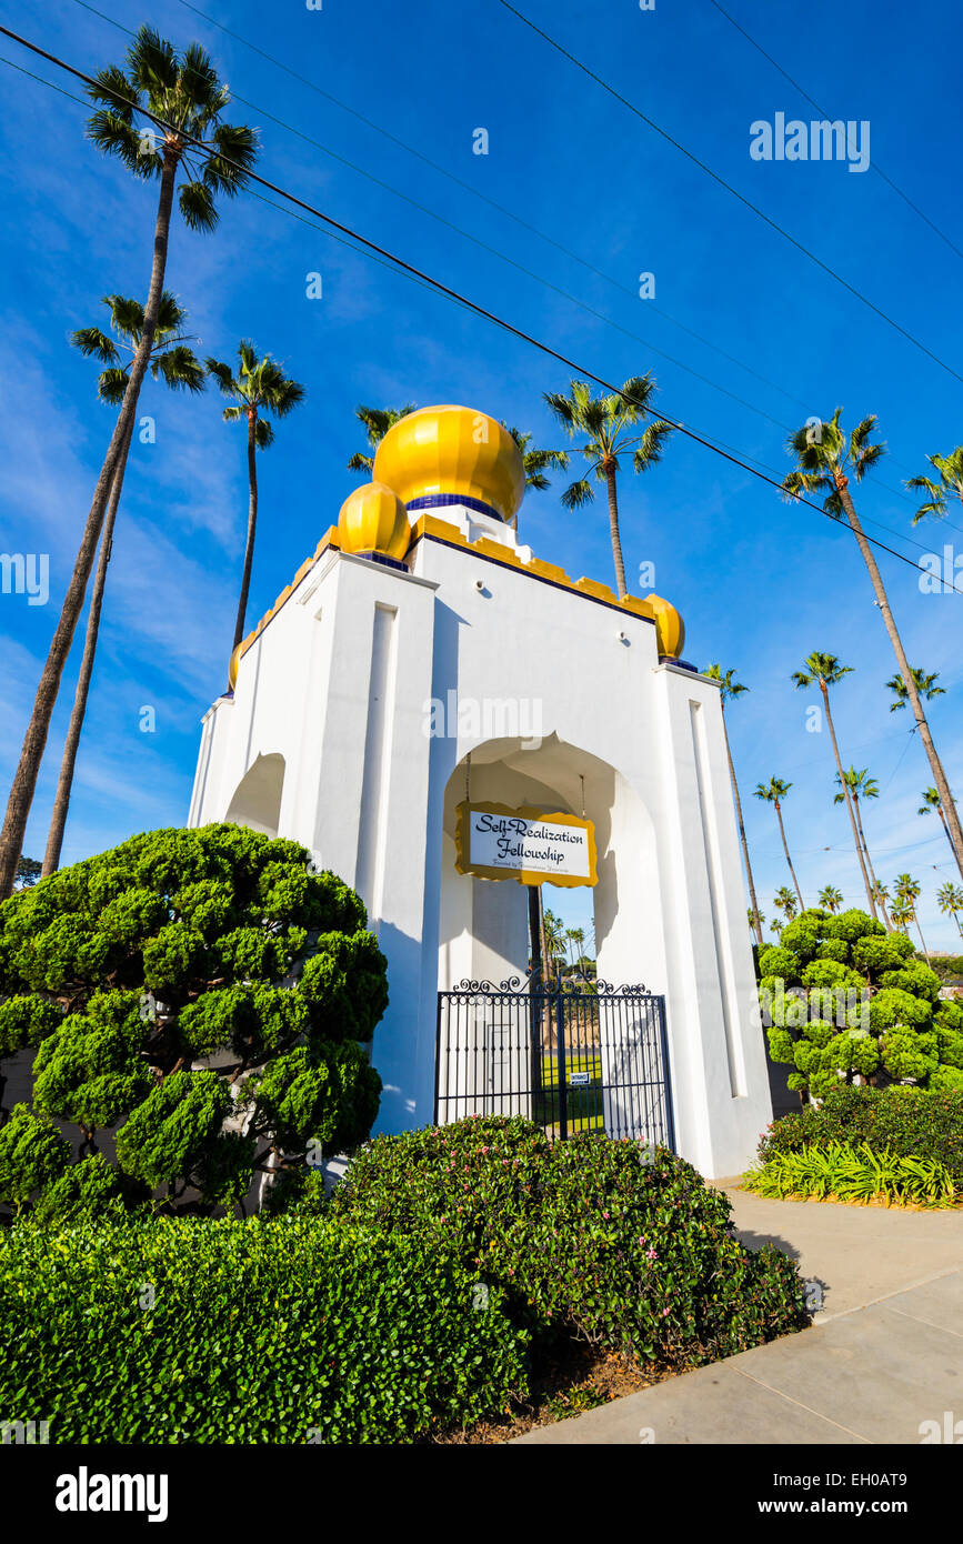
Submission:
<svg viewBox="0 0 963 1544">
<path fill-rule="evenodd" d="M 252 1177 L 363 1141 L 387 1005 L 358 896 L 296 841 L 153 831 L 0 905 L 0 1056 L 35 1047 L 32 1110 L 0 1126 L 0 1200 L 52 1218 L 97 1197 L 239 1203 Z M 114 1133 L 120 1177 L 63 1178 Z M 56 1156 L 57 1155 L 57 1156 Z M 51 1192 L 46 1194 L 46 1187 Z"/>
</svg>

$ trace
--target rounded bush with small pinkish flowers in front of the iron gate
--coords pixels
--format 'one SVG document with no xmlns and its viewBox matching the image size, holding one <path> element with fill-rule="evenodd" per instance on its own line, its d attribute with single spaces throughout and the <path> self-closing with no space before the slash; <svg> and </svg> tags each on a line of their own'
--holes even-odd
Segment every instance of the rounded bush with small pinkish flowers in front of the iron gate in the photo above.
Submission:
<svg viewBox="0 0 963 1544">
<path fill-rule="evenodd" d="M 454 1248 L 519 1323 L 644 1359 L 694 1365 L 806 1323 L 795 1263 L 744 1249 L 725 1195 L 639 1143 L 506 1118 L 378 1136 L 330 1214 Z"/>
</svg>

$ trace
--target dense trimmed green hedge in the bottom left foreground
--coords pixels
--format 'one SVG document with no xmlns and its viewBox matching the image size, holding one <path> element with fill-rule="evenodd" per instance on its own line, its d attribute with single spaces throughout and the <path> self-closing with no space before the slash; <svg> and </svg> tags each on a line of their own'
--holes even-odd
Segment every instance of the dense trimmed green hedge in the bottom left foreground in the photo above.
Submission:
<svg viewBox="0 0 963 1544">
<path fill-rule="evenodd" d="M 526 1348 L 505 1292 L 417 1238 L 307 1215 L 0 1234 L 0 1420 L 51 1442 L 411 1442 L 523 1396 Z"/>
</svg>

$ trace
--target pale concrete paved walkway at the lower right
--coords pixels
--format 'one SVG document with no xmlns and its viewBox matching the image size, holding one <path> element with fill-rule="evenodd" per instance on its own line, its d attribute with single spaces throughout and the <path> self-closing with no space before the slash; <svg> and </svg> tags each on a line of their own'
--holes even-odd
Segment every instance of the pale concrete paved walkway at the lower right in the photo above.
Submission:
<svg viewBox="0 0 963 1544">
<path fill-rule="evenodd" d="M 736 1183 L 719 1181 L 739 1237 L 819 1283 L 813 1328 L 515 1441 L 918 1444 L 926 1420 L 958 1420 L 960 1441 L 963 1212 L 765 1201 Z"/>
</svg>

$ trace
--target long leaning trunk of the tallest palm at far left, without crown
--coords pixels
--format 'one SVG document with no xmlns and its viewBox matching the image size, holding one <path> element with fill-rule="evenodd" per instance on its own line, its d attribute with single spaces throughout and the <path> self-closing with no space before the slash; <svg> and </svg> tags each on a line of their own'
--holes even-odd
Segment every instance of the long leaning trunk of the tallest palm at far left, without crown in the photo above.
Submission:
<svg viewBox="0 0 963 1544">
<path fill-rule="evenodd" d="M 26 727 L 26 735 L 23 736 L 20 760 L 11 784 L 3 831 L 0 832 L 0 900 L 5 900 L 14 888 L 17 863 L 23 851 L 23 834 L 26 831 L 26 821 L 34 801 L 37 777 L 40 774 L 40 763 L 43 760 L 46 736 L 49 733 L 49 723 L 57 703 L 57 693 L 60 690 L 63 667 L 66 665 L 66 658 L 74 639 L 77 619 L 83 610 L 86 581 L 90 579 L 90 571 L 94 565 L 94 554 L 97 551 L 97 542 L 103 527 L 106 502 L 113 488 L 123 442 L 127 440 L 134 423 L 140 383 L 144 381 L 144 372 L 147 371 L 147 363 L 154 343 L 157 312 L 160 310 L 160 298 L 164 295 L 164 270 L 167 267 L 167 245 L 170 239 L 170 216 L 174 199 L 177 159 L 179 151 L 173 147 L 167 147 L 164 154 L 164 170 L 160 173 L 157 219 L 154 224 L 151 279 L 147 293 L 147 306 L 144 307 L 144 330 L 131 361 L 130 380 L 123 394 L 120 412 L 117 414 L 117 423 L 114 425 L 114 432 L 106 448 L 97 486 L 94 488 L 94 499 L 83 528 L 80 548 L 74 562 L 74 571 L 66 587 L 63 605 L 60 607 L 60 618 L 49 645 L 46 664 L 43 665 L 40 684 L 37 686 L 34 710 Z"/>
</svg>

